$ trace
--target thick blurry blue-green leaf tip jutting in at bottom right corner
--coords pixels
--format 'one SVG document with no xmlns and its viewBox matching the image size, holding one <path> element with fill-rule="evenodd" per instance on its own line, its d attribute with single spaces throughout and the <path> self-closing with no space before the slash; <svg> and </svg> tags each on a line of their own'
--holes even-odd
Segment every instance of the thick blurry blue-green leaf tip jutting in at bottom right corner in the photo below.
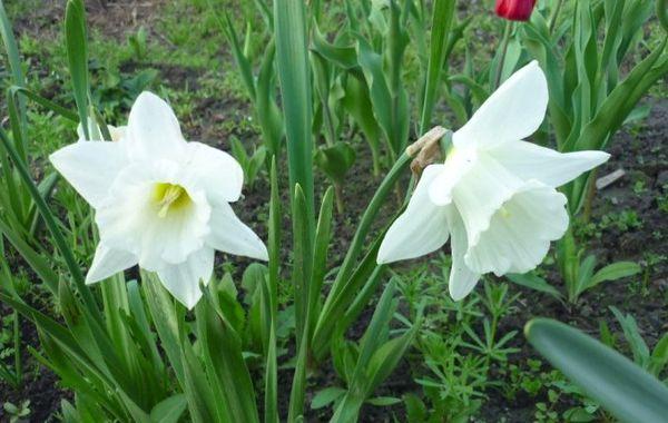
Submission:
<svg viewBox="0 0 668 423">
<path fill-rule="evenodd" d="M 536 318 L 524 334 L 554 367 L 622 422 L 661 422 L 668 387 L 616 351 L 563 323 Z"/>
</svg>

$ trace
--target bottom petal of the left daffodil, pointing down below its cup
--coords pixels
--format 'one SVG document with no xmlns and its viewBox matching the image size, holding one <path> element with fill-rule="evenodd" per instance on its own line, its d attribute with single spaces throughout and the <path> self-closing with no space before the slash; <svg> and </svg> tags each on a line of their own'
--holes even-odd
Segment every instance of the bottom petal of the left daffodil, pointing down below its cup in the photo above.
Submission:
<svg viewBox="0 0 668 423">
<path fill-rule="evenodd" d="M 185 262 L 167 265 L 157 272 L 165 288 L 188 309 L 195 307 L 202 298 L 199 283 L 206 286 L 212 278 L 214 255 L 214 249 L 202 248 L 190 254 Z"/>
</svg>

